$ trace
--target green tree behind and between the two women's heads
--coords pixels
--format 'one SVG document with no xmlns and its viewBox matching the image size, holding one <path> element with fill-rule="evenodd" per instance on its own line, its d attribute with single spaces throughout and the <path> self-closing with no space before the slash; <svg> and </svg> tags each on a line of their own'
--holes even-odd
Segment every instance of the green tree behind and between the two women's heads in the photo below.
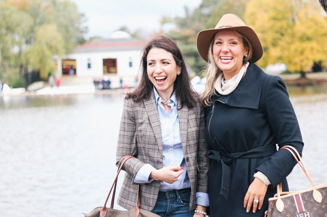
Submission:
<svg viewBox="0 0 327 217">
<path fill-rule="evenodd" d="M 174 28 L 168 32 L 162 28 L 161 32 L 177 41 L 186 55 L 188 64 L 197 75 L 203 76 L 205 62 L 197 51 L 196 38 L 198 33 L 204 29 L 215 28 L 223 14 L 233 13 L 243 17 L 247 2 L 248 0 L 203 0 L 194 11 L 184 7 L 184 17 L 162 17 L 161 26 L 171 23 Z"/>
</svg>

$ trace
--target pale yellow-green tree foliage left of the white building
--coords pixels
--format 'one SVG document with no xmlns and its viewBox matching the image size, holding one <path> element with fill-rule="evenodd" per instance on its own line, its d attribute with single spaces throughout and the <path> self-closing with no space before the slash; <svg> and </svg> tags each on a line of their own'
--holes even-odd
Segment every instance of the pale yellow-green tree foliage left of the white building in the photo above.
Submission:
<svg viewBox="0 0 327 217">
<path fill-rule="evenodd" d="M 39 70 L 45 79 L 53 70 L 54 55 L 62 56 L 86 41 L 85 16 L 71 1 L 3 0 L 0 12 L 1 71 L 16 70 L 22 77 Z"/>
</svg>

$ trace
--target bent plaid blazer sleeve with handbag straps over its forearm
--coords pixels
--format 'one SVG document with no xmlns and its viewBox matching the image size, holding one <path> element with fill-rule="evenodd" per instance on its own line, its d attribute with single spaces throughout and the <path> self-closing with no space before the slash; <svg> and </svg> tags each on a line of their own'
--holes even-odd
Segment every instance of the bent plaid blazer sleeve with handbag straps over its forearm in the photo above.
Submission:
<svg viewBox="0 0 327 217">
<path fill-rule="evenodd" d="M 128 159 L 123 167 L 123 170 L 133 175 L 133 180 L 139 169 L 145 165 L 141 160 L 137 159 L 135 106 L 137 105 L 131 99 L 124 99 L 123 114 L 116 148 L 116 166 L 118 166 L 120 159 L 125 155 L 136 157 Z"/>
</svg>

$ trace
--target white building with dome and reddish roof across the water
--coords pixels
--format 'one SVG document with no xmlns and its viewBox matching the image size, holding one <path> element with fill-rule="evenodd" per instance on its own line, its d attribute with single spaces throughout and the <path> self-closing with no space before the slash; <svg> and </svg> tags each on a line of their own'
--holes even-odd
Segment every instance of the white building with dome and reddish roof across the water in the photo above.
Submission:
<svg viewBox="0 0 327 217">
<path fill-rule="evenodd" d="M 108 39 L 86 43 L 65 55 L 62 61 L 55 60 L 62 76 L 109 77 L 113 84 L 135 83 L 141 61 L 141 51 L 146 41 L 132 38 L 128 33 L 118 31 Z M 60 63 L 61 62 L 61 63 Z M 74 73 L 69 73 L 73 68 Z M 60 73 L 59 73 L 60 74 Z"/>
</svg>

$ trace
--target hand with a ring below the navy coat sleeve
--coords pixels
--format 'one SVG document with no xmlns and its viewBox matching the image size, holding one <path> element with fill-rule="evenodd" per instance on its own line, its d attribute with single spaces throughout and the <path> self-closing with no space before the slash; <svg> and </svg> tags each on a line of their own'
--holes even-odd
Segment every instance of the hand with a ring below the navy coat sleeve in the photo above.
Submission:
<svg viewBox="0 0 327 217">
<path fill-rule="evenodd" d="M 244 198 L 244 207 L 246 207 L 246 212 L 250 211 L 252 204 L 253 213 L 256 212 L 256 208 L 261 209 L 267 189 L 268 185 L 266 185 L 260 178 L 254 178 Z M 259 200 L 259 202 L 254 200 Z"/>
</svg>

